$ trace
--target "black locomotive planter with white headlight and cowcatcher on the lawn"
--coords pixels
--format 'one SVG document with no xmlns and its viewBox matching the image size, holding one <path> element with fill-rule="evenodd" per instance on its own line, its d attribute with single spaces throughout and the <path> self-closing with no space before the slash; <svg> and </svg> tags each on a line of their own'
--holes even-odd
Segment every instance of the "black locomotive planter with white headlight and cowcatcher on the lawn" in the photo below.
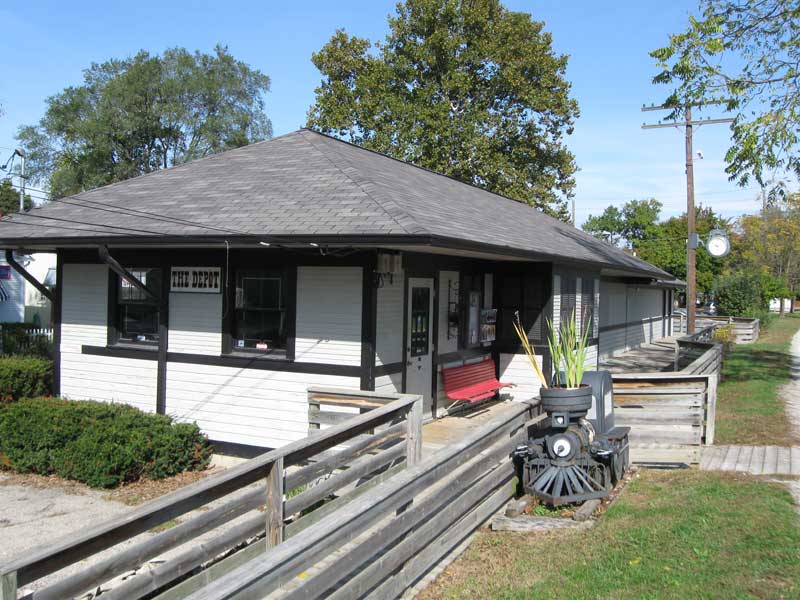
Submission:
<svg viewBox="0 0 800 600">
<path fill-rule="evenodd" d="M 525 492 L 551 506 L 605 498 L 628 469 L 630 428 L 596 430 L 587 418 L 589 385 L 542 388 L 541 398 L 549 427 L 515 452 Z M 596 422 L 599 428 L 606 423 Z"/>
</svg>

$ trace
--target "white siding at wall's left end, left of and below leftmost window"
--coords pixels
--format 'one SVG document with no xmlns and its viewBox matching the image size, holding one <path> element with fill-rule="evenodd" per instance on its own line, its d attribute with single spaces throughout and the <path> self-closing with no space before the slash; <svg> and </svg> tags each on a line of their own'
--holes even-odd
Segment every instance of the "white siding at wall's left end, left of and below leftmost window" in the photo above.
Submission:
<svg viewBox="0 0 800 600">
<path fill-rule="evenodd" d="M 82 354 L 108 341 L 108 268 L 64 265 L 61 323 L 61 395 L 75 400 L 123 402 L 156 409 L 158 363 Z"/>
</svg>

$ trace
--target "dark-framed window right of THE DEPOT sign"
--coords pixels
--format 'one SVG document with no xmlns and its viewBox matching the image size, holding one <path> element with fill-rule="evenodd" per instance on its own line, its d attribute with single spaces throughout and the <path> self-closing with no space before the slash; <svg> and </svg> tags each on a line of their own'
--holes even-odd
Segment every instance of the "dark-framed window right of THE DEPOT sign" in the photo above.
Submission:
<svg viewBox="0 0 800 600">
<path fill-rule="evenodd" d="M 286 350 L 287 292 L 284 271 L 236 272 L 234 350 L 268 353 Z"/>
</svg>

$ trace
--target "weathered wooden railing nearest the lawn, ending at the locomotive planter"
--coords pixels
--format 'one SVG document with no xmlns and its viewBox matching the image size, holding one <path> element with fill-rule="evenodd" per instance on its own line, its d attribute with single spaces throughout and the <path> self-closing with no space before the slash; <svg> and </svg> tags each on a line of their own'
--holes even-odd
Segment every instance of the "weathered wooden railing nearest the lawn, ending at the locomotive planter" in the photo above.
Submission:
<svg viewBox="0 0 800 600">
<path fill-rule="evenodd" d="M 513 497 L 511 455 L 545 419 L 513 403 L 457 443 L 393 475 L 192 600 L 396 598 Z M 369 414 L 369 413 L 367 413 Z"/>
</svg>

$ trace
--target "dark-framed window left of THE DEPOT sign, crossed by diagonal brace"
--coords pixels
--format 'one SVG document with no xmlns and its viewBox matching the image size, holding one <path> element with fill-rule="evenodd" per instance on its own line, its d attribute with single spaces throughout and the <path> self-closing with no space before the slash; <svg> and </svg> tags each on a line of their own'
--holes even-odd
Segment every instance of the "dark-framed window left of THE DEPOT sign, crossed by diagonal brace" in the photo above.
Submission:
<svg viewBox="0 0 800 600">
<path fill-rule="evenodd" d="M 122 277 L 117 277 L 118 341 L 133 343 L 158 342 L 161 269 L 133 268 L 131 275 L 153 292 L 155 298 Z"/>
</svg>

